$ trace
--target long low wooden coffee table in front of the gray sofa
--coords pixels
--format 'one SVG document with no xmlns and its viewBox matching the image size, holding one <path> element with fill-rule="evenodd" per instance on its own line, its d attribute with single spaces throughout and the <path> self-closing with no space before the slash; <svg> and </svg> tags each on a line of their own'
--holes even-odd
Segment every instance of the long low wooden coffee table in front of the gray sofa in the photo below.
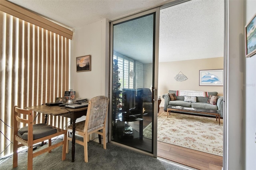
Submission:
<svg viewBox="0 0 256 170">
<path fill-rule="evenodd" d="M 175 106 L 172 105 L 168 105 L 167 106 L 167 117 L 169 116 L 169 114 L 171 113 L 171 111 L 186 111 L 186 112 L 190 112 L 190 113 L 202 113 L 202 114 L 207 114 L 207 115 L 215 115 L 216 116 L 216 121 L 217 118 L 219 119 L 219 125 L 220 125 L 220 113 L 218 110 L 214 110 L 214 109 L 200 109 L 200 108 L 192 108 L 190 107 L 190 109 L 184 109 L 186 107 L 182 107 L 182 108 L 175 108 Z"/>
</svg>

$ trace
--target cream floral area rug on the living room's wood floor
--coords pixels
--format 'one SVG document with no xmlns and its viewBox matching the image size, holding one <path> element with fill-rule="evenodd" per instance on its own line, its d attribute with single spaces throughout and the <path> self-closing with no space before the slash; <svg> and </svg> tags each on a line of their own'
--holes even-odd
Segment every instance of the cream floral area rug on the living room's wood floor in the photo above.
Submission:
<svg viewBox="0 0 256 170">
<path fill-rule="evenodd" d="M 167 112 L 158 116 L 157 140 L 209 154 L 223 156 L 223 119 Z M 152 124 L 143 130 L 152 138 Z"/>
</svg>

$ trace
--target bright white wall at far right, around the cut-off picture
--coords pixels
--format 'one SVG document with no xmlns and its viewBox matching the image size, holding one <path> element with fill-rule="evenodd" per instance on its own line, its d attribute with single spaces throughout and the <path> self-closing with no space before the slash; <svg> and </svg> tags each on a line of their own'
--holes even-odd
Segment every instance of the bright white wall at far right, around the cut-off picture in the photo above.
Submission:
<svg viewBox="0 0 256 170">
<path fill-rule="evenodd" d="M 247 0 L 245 3 L 244 26 L 256 13 L 256 1 Z M 245 59 L 245 169 L 256 169 L 256 55 Z"/>
</svg>

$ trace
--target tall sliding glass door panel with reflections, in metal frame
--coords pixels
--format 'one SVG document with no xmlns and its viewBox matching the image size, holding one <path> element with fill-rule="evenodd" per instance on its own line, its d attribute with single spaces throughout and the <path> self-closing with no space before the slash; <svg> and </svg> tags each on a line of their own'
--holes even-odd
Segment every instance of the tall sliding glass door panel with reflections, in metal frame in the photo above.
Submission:
<svg viewBox="0 0 256 170">
<path fill-rule="evenodd" d="M 159 9 L 111 23 L 110 140 L 156 157 Z"/>
</svg>

